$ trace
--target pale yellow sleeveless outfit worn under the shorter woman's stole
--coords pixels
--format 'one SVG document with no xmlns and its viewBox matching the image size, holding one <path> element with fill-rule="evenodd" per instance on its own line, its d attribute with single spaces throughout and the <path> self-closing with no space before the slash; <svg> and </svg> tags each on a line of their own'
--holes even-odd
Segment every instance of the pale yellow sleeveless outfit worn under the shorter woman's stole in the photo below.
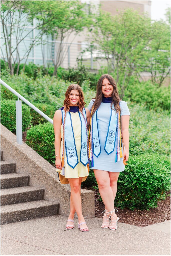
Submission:
<svg viewBox="0 0 171 256">
<path fill-rule="evenodd" d="M 86 180 L 88 174 L 88 168 L 87 165 L 84 166 L 80 162 L 80 151 L 81 151 L 81 121 L 79 118 L 78 112 L 71 113 L 71 119 L 72 119 L 72 126 L 74 131 L 74 137 L 75 137 L 75 145 L 77 150 L 77 156 L 78 156 L 78 164 L 73 169 L 71 166 L 67 164 L 67 158 L 66 158 L 66 151 L 64 156 L 64 165 L 65 165 L 65 178 L 69 179 L 77 179 L 79 177 L 84 177 L 82 179 L 82 182 Z M 64 136 L 70 136 L 69 134 L 66 134 Z M 62 161 L 62 147 L 63 147 L 63 124 L 61 125 L 61 148 L 60 148 L 60 156 Z M 65 144 L 64 144 L 64 150 L 65 150 Z M 56 172 L 59 172 L 62 175 L 62 170 L 56 169 Z"/>
</svg>

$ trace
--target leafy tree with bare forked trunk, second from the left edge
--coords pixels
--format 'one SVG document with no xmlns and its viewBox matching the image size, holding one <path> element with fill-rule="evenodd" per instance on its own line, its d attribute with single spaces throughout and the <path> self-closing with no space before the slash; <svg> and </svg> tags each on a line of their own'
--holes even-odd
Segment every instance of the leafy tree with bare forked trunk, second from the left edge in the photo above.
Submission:
<svg viewBox="0 0 171 256">
<path fill-rule="evenodd" d="M 44 26 L 44 33 L 52 35 L 54 41 L 59 41 L 55 43 L 54 56 L 51 55 L 54 64 L 53 75 L 56 75 L 57 68 L 62 64 L 75 36 L 83 31 L 84 27 L 89 26 L 90 15 L 84 11 L 85 4 L 80 1 L 42 1 L 42 7 L 39 4 L 40 1 L 28 2 L 29 5 L 34 3 L 32 15 L 35 15 L 36 20 L 40 23 L 45 21 L 48 24 L 48 29 Z M 74 37 L 71 42 L 68 42 L 72 33 Z M 54 41 L 52 47 L 54 47 Z"/>
</svg>

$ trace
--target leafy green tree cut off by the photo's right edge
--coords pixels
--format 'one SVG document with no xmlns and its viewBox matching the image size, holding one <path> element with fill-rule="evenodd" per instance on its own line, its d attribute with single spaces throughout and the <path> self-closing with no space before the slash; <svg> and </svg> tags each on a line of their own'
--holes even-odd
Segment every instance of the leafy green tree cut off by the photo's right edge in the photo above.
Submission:
<svg viewBox="0 0 171 256">
<path fill-rule="evenodd" d="M 170 73 L 170 26 L 163 20 L 152 23 L 153 38 L 144 51 L 142 71 L 151 73 L 151 81 L 157 87 Z"/>
</svg>

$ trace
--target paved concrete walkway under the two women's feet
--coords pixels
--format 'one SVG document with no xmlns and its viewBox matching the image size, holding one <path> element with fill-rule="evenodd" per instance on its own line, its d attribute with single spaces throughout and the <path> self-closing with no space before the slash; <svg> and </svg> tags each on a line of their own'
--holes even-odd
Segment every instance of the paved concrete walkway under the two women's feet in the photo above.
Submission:
<svg viewBox="0 0 171 256">
<path fill-rule="evenodd" d="M 87 219 L 89 232 L 65 230 L 67 217 L 49 216 L 1 226 L 1 255 L 170 255 L 170 221 L 144 228 L 118 222 L 101 229 Z"/>
</svg>

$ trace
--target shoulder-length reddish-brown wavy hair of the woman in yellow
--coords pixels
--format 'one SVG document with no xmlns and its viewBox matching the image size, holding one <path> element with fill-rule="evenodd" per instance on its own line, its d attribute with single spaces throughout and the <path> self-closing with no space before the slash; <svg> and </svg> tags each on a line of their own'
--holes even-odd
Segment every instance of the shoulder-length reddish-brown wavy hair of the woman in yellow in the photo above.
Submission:
<svg viewBox="0 0 171 256">
<path fill-rule="evenodd" d="M 79 101 L 78 101 L 78 106 L 79 106 L 79 111 L 83 112 L 83 108 L 85 106 L 85 102 L 84 102 L 84 96 L 83 96 L 83 91 L 81 89 L 81 87 L 78 84 L 71 84 L 68 89 L 65 92 L 65 100 L 64 100 L 64 111 L 68 112 L 70 110 L 70 93 L 72 90 L 77 90 L 78 94 L 79 94 Z"/>
</svg>

